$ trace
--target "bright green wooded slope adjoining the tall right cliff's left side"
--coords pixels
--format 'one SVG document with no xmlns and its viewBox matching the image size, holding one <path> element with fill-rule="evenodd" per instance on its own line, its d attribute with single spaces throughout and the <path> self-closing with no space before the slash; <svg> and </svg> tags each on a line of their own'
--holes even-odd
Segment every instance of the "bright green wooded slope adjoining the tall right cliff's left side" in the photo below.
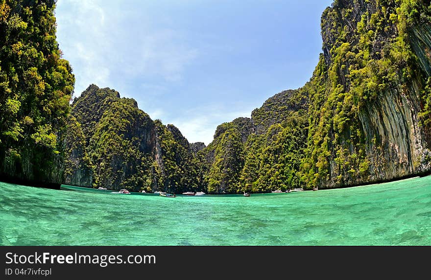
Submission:
<svg viewBox="0 0 431 280">
<path fill-rule="evenodd" d="M 308 114 L 292 113 L 282 124 L 272 125 L 265 135 L 249 137 L 240 190 L 268 192 L 301 187 L 300 166 L 308 135 Z"/>
</svg>

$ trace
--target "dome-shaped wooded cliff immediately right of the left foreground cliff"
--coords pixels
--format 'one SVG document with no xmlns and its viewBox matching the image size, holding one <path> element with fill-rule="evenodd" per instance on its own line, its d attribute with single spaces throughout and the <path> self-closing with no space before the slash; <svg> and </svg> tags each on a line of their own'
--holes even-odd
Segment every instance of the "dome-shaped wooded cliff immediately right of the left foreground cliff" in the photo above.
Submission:
<svg viewBox="0 0 431 280">
<path fill-rule="evenodd" d="M 144 187 L 145 163 L 155 147 L 154 124 L 135 100 L 91 85 L 72 104 L 67 140 L 65 184 Z"/>
</svg>

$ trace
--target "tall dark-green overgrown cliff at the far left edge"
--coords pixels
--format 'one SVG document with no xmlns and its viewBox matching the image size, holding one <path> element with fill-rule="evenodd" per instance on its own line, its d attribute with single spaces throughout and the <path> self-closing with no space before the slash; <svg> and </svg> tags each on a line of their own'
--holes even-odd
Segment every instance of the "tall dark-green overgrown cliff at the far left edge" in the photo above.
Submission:
<svg viewBox="0 0 431 280">
<path fill-rule="evenodd" d="M 0 0 L 0 174 L 61 184 L 74 76 L 56 41 L 54 0 Z"/>
</svg>

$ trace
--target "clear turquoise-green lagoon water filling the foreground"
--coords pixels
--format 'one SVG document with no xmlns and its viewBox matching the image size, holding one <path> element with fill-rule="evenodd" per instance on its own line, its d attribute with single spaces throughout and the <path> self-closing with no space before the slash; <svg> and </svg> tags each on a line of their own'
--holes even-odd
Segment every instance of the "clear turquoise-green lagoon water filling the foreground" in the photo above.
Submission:
<svg viewBox="0 0 431 280">
<path fill-rule="evenodd" d="M 62 188 L 0 183 L 0 245 L 431 245 L 431 177 L 249 198 Z"/>
</svg>

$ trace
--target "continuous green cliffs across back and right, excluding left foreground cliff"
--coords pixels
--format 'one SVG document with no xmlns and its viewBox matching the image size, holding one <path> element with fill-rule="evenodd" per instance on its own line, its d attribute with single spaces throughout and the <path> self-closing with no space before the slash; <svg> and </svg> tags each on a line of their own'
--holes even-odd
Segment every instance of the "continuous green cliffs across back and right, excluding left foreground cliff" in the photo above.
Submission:
<svg viewBox="0 0 431 280">
<path fill-rule="evenodd" d="M 269 98 L 251 118 L 219 125 L 207 147 L 150 120 L 134 100 L 90 86 L 72 105 L 67 178 L 239 193 L 429 172 L 430 9 L 423 0 L 335 0 L 322 16 L 323 53 L 310 81 Z"/>
</svg>

